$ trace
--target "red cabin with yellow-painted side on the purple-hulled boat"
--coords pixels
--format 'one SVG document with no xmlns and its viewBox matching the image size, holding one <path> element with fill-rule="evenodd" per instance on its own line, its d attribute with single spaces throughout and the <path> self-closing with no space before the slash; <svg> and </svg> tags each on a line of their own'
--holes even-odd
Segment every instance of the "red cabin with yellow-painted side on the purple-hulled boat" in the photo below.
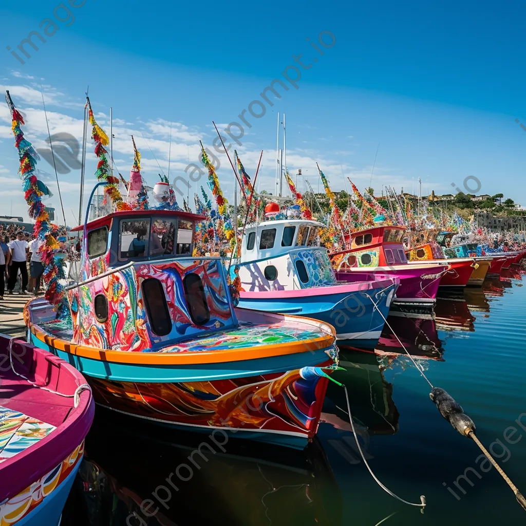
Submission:
<svg viewBox="0 0 526 526">
<path fill-rule="evenodd" d="M 337 270 L 406 264 L 406 230 L 399 225 L 386 225 L 352 232 L 347 239 L 350 248 L 331 254 L 331 260 Z"/>
</svg>

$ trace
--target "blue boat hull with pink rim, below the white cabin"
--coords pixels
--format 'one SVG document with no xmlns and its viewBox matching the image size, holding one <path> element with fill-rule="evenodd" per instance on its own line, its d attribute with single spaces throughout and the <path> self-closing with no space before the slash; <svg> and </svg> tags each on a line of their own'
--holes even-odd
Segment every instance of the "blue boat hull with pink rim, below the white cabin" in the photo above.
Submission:
<svg viewBox="0 0 526 526">
<path fill-rule="evenodd" d="M 367 287 L 359 285 L 352 288 L 337 285 L 296 291 L 241 291 L 239 307 L 301 313 L 330 323 L 336 329 L 338 345 L 375 345 L 397 290 L 398 280 L 381 280 L 367 284 Z"/>
</svg>

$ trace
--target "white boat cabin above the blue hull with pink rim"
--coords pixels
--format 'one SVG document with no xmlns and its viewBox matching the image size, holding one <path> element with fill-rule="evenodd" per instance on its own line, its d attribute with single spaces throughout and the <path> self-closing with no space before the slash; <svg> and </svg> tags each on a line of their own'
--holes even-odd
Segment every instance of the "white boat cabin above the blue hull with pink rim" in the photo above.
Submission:
<svg viewBox="0 0 526 526">
<path fill-rule="evenodd" d="M 308 219 L 278 219 L 248 225 L 241 244 L 242 289 L 295 290 L 336 282 L 318 234 L 325 225 Z"/>
</svg>

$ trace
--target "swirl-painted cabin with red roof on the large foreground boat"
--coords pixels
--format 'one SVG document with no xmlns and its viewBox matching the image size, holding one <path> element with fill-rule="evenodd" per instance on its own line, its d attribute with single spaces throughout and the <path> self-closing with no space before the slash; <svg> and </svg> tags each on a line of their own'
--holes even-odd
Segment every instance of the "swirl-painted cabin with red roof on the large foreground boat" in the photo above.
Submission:
<svg viewBox="0 0 526 526">
<path fill-rule="evenodd" d="M 193 257 L 195 224 L 179 210 L 120 211 L 88 222 L 80 275 L 67 287 L 70 341 L 159 350 L 237 326 L 219 258 Z"/>
</svg>

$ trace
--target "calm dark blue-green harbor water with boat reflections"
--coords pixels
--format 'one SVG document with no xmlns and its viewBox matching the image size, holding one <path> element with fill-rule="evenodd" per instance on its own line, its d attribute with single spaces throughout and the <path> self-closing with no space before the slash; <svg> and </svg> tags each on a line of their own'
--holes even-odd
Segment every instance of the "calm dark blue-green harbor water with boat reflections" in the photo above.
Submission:
<svg viewBox="0 0 526 526">
<path fill-rule="evenodd" d="M 434 320 L 390 315 L 389 323 L 412 355 L 420 357 L 433 385 L 446 389 L 474 420 L 485 446 L 500 442 L 493 444 L 495 458 L 526 493 L 526 288 L 518 277 L 508 274 L 485 281 L 482 289 L 441 295 Z M 349 391 L 372 470 L 404 500 L 420 502 L 420 495 L 426 495 L 424 514 L 372 480 L 350 431 L 345 394 L 331 384 L 318 440 L 306 451 L 231 438 L 224 453 L 207 452 L 207 461 L 197 457 L 200 469 L 194 467 L 188 481 L 174 478 L 177 490 L 166 478 L 188 463 L 203 435 L 173 432 L 97 408 L 63 526 L 453 526 L 497 518 L 524 523 L 526 512 L 498 473 L 484 472 L 487 463 L 476 462 L 481 454 L 476 444 L 440 416 L 427 382 L 407 356 L 392 354 L 400 351 L 398 345 L 386 329 L 377 346 L 382 356 L 341 349 L 346 371 L 336 379 Z M 515 422 L 522 413 L 524 429 Z M 503 438 L 510 426 L 518 429 L 510 438 L 514 444 Z M 471 482 L 460 478 L 456 485 L 464 472 Z M 188 471 L 181 473 L 188 477 Z M 154 499 L 148 508 L 145 499 L 156 488 L 165 504 Z M 145 518 L 141 503 L 152 517 Z"/>
</svg>

